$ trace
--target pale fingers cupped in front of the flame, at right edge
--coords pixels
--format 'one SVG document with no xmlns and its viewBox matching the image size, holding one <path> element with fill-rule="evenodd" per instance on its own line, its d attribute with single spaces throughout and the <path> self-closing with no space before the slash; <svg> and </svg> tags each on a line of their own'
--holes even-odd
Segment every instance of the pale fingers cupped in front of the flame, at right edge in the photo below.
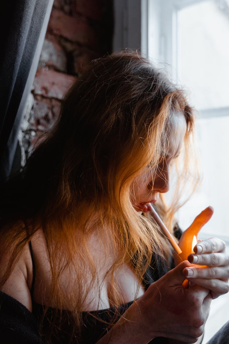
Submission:
<svg viewBox="0 0 229 344">
<path fill-rule="evenodd" d="M 225 247 L 225 242 L 217 238 L 197 243 L 188 261 L 199 266 L 183 271 L 188 280 L 209 289 L 213 299 L 229 291 L 229 255 Z"/>
</svg>

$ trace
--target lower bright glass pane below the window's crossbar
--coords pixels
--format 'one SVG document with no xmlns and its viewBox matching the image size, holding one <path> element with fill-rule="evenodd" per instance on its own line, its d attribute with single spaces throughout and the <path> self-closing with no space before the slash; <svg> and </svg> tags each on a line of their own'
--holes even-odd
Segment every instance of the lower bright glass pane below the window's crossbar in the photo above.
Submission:
<svg viewBox="0 0 229 344">
<path fill-rule="evenodd" d="M 198 119 L 197 134 L 203 182 L 200 190 L 180 210 L 179 224 L 186 229 L 203 209 L 211 205 L 214 214 L 201 229 L 208 237 L 228 236 L 229 195 L 229 116 Z"/>
</svg>

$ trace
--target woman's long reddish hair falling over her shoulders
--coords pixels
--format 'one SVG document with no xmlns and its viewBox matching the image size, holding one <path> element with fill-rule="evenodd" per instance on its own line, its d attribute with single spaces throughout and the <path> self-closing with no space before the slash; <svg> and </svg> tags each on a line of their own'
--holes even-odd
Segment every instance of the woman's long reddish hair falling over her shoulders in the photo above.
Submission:
<svg viewBox="0 0 229 344">
<path fill-rule="evenodd" d="M 24 169 L 2 188 L 0 236 L 5 250 L 10 246 L 14 250 L 1 286 L 25 245 L 41 230 L 51 267 L 49 304 L 54 299 L 68 304 L 78 331 L 89 291 L 82 264 L 90 267 L 91 283 L 100 292 L 87 246 L 98 230 L 104 239 L 109 235 L 118 252 L 106 273 L 112 280 L 110 303 L 123 302 L 115 270 L 125 262 L 142 280 L 153 252 L 169 254 L 167 241 L 148 216 L 137 214 L 131 196 L 136 176 L 148 166 L 156 168 L 166 151 L 164 129 L 174 111 L 181 112 L 187 123 L 182 159 L 176 164 L 181 188 L 181 180 L 192 185 L 197 180 L 189 164 L 194 114 L 184 92 L 135 53 L 114 54 L 90 64 L 66 95 L 55 128 Z M 170 229 L 179 200 L 175 187 L 173 204 L 165 206 L 162 197 L 158 202 Z M 70 265 L 78 276 L 74 297 L 62 292 L 59 283 Z"/>
</svg>

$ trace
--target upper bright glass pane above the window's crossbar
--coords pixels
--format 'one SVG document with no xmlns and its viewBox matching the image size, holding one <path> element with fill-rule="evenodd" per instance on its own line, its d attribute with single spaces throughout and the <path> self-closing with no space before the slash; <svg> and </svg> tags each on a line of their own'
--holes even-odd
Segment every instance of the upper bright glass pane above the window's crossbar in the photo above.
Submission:
<svg viewBox="0 0 229 344">
<path fill-rule="evenodd" d="M 178 11 L 178 77 L 198 108 L 229 106 L 229 1 Z"/>
</svg>

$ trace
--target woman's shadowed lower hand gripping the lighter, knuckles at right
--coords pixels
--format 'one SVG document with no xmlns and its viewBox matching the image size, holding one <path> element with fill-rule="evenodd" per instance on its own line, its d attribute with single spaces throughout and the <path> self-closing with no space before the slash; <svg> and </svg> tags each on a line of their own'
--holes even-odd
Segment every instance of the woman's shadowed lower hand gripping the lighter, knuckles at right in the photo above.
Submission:
<svg viewBox="0 0 229 344">
<path fill-rule="evenodd" d="M 141 312 L 141 326 L 151 337 L 163 336 L 195 343 L 202 335 L 208 318 L 209 290 L 198 285 L 186 289 L 183 270 L 193 265 L 183 261 L 152 283 L 136 302 Z"/>
</svg>

